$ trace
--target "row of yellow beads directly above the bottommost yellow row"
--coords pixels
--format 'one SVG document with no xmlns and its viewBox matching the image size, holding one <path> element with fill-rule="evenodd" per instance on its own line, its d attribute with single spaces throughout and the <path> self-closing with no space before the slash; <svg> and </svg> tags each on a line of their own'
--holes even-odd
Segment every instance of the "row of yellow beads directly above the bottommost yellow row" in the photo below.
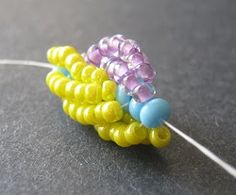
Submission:
<svg viewBox="0 0 236 195">
<path fill-rule="evenodd" d="M 104 124 L 119 121 L 123 110 L 117 101 L 100 102 L 97 105 L 76 104 L 63 100 L 63 110 L 81 124 Z"/>
</svg>

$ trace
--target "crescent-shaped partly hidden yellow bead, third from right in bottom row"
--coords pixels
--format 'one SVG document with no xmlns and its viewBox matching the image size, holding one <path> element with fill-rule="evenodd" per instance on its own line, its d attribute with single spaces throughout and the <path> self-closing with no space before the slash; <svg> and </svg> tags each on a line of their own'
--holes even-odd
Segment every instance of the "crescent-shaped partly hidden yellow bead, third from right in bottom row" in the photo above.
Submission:
<svg viewBox="0 0 236 195">
<path fill-rule="evenodd" d="M 120 126 L 118 126 L 113 134 L 113 139 L 115 141 L 115 143 L 121 147 L 128 147 L 131 144 L 128 143 L 125 139 L 124 136 L 124 129 L 126 128 L 126 125 L 121 124 Z"/>
</svg>

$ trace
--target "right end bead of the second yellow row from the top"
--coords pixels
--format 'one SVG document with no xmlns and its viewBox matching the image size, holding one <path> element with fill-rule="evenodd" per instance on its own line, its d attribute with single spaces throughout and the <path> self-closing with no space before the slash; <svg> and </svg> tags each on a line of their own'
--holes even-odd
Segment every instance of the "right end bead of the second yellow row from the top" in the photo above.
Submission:
<svg viewBox="0 0 236 195">
<path fill-rule="evenodd" d="M 111 80 L 104 81 L 102 84 L 102 99 L 104 101 L 114 100 L 116 97 L 116 83 Z"/>
</svg>

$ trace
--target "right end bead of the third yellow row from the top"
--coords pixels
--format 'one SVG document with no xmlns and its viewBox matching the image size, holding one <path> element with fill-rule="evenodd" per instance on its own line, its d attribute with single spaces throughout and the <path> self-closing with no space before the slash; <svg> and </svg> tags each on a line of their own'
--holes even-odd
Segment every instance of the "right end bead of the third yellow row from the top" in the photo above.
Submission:
<svg viewBox="0 0 236 195">
<path fill-rule="evenodd" d="M 117 101 L 105 102 L 102 106 L 102 116 L 109 123 L 120 120 L 123 116 L 121 105 Z"/>
</svg>

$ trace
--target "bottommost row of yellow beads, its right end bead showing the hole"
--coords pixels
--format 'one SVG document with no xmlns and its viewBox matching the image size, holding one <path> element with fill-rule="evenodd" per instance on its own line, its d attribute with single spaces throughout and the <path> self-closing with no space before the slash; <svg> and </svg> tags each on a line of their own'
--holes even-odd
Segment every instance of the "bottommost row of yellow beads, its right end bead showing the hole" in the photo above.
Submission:
<svg viewBox="0 0 236 195">
<path fill-rule="evenodd" d="M 139 122 L 116 122 L 112 124 L 95 125 L 98 135 L 105 141 L 114 141 L 121 147 L 128 147 L 136 144 L 149 144 L 157 148 L 165 147 L 171 139 L 167 127 L 147 129 Z"/>
</svg>

